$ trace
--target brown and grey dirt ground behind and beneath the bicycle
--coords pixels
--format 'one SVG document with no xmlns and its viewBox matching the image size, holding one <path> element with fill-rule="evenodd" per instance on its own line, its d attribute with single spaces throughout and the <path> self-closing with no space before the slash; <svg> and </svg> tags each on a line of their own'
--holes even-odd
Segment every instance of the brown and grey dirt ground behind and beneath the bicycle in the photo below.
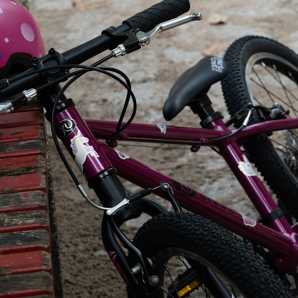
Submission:
<svg viewBox="0 0 298 298">
<path fill-rule="evenodd" d="M 105 28 L 119 25 L 122 20 L 152 4 L 155 1 L 30 1 L 31 13 L 41 27 L 46 49 L 54 47 L 59 52 L 95 38 Z M 207 53 L 222 57 L 229 44 L 237 38 L 263 35 L 294 50 L 298 48 L 297 1 L 191 1 L 191 11 L 200 12 L 202 21 L 164 32 L 149 46 L 105 63 L 122 70 L 131 79 L 138 102 L 135 122 L 165 123 L 162 106 L 179 75 Z M 215 21 L 216 18 L 219 21 Z M 214 108 L 228 119 L 219 83 L 212 86 L 209 95 Z M 125 92 L 108 77 L 88 74 L 67 90 L 66 96 L 74 99 L 78 111 L 85 118 L 117 120 Z M 170 124 L 195 127 L 199 121 L 190 109 L 185 108 Z M 49 145 L 64 297 L 126 297 L 124 283 L 102 245 L 102 212 L 81 198 L 55 152 L 51 136 Z M 190 150 L 164 148 L 119 148 L 243 214 L 257 216 L 225 162 L 212 150 L 201 148 L 192 153 Z M 73 168 L 76 170 L 75 166 Z M 84 178 L 77 170 L 76 173 L 88 190 Z M 132 192 L 138 190 L 128 183 L 125 186 Z M 96 201 L 91 190 L 88 192 Z M 138 224 L 126 226 L 124 230 L 132 236 Z"/>
</svg>

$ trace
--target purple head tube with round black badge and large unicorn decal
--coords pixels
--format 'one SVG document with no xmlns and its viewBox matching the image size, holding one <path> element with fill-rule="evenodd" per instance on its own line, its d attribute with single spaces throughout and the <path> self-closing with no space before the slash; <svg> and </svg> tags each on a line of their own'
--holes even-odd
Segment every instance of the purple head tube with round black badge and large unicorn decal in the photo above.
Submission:
<svg viewBox="0 0 298 298">
<path fill-rule="evenodd" d="M 112 167 L 75 107 L 66 108 L 55 116 L 55 131 L 87 181 Z"/>
</svg>

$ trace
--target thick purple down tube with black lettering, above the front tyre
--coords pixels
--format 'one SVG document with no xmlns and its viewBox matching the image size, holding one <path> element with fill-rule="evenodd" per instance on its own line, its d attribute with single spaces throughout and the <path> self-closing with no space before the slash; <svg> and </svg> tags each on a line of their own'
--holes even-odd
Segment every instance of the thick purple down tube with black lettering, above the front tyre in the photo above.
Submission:
<svg viewBox="0 0 298 298">
<path fill-rule="evenodd" d="M 165 181 L 170 184 L 175 197 L 185 209 L 203 215 L 232 232 L 276 252 L 283 252 L 283 254 L 289 255 L 293 252 L 291 240 L 288 237 L 172 180 L 170 177 L 163 175 L 116 149 L 108 146 L 103 146 L 102 148 L 111 164 L 117 169 L 120 177 L 142 188 L 154 188 L 159 185 L 160 181 Z M 158 189 L 155 190 L 154 193 L 165 198 Z M 271 247 L 272 243 L 274 243 L 274 246 Z"/>
</svg>

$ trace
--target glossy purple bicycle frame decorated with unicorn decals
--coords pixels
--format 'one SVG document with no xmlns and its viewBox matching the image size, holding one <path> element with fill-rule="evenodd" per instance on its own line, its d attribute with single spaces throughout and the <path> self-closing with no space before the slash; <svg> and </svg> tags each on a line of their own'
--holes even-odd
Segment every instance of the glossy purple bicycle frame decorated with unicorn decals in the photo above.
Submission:
<svg viewBox="0 0 298 298">
<path fill-rule="evenodd" d="M 75 121 L 75 125 L 70 125 L 72 121 Z M 296 225 L 291 227 L 283 216 L 274 220 L 270 227 L 264 226 L 100 142 L 98 139 L 108 138 L 116 131 L 117 122 L 82 119 L 76 109 L 71 107 L 56 115 L 55 125 L 56 129 L 73 127 L 62 138 L 62 141 L 87 181 L 109 167 L 116 168 L 120 177 L 142 188 L 154 188 L 159 185 L 160 181 L 165 181 L 172 187 L 174 195 L 182 207 L 204 215 L 237 235 L 273 251 L 274 263 L 280 271 L 288 272 L 298 266 L 296 233 L 298 229 Z M 131 123 L 118 139 L 185 144 L 190 145 L 192 150 L 196 150 L 198 146 L 218 147 L 243 189 L 263 217 L 277 209 L 277 205 L 258 176 L 249 167 L 250 163 L 245 159 L 240 145 L 256 134 L 297 127 L 298 119 L 291 119 L 286 116 L 280 120 L 249 125 L 240 131 L 237 137 L 233 136 L 224 141 L 210 144 L 207 139 L 219 138 L 233 132 L 226 128 L 221 119 L 215 120 L 207 128 Z M 162 196 L 159 190 L 154 192 Z"/>
</svg>

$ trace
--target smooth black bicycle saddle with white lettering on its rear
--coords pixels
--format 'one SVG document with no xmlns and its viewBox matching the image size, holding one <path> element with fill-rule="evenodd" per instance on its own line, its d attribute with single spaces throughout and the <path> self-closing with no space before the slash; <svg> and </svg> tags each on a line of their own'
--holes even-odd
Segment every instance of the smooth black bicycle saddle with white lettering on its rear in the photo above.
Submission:
<svg viewBox="0 0 298 298">
<path fill-rule="evenodd" d="M 173 119 L 197 94 L 207 92 L 212 84 L 224 79 L 228 72 L 228 66 L 221 58 L 206 56 L 201 59 L 174 83 L 162 110 L 164 119 Z"/>
</svg>

